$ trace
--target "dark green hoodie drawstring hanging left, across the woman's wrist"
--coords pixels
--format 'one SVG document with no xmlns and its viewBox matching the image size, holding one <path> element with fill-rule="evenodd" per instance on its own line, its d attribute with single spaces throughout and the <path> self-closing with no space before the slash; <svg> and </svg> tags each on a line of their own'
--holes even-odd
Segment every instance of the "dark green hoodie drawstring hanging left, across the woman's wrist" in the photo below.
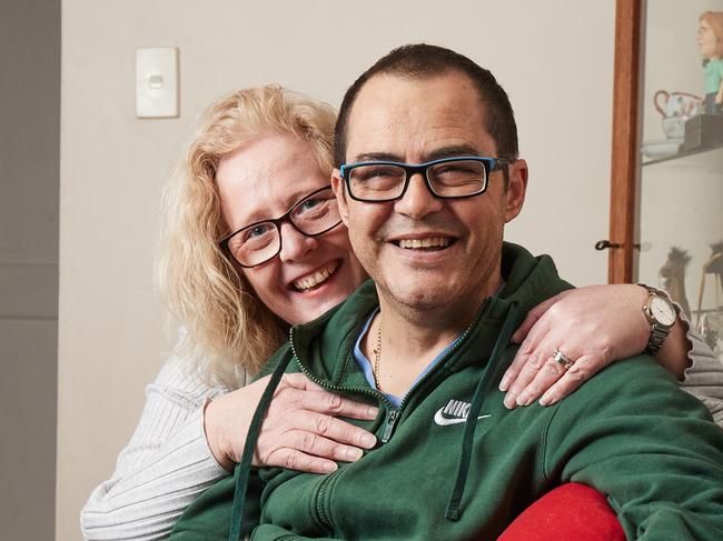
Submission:
<svg viewBox="0 0 723 541">
<path fill-rule="evenodd" d="M 271 379 L 261 394 L 261 400 L 259 400 L 254 418 L 251 419 L 251 424 L 248 428 L 248 434 L 246 435 L 246 444 L 244 445 L 244 454 L 241 455 L 241 461 L 236 464 L 235 477 L 236 477 L 236 488 L 234 490 L 234 508 L 231 512 L 231 529 L 228 534 L 228 541 L 238 541 L 241 537 L 241 527 L 244 523 L 244 503 L 246 500 L 246 489 L 248 487 L 248 478 L 251 474 L 251 461 L 254 460 L 254 450 L 256 449 L 256 441 L 258 440 L 258 434 L 261 430 L 261 422 L 266 415 L 266 410 L 268 410 L 271 400 L 274 399 L 274 393 L 276 388 L 281 381 L 281 375 L 286 372 L 286 368 L 291 362 L 294 355 L 289 352 L 286 359 L 283 359 L 279 364 L 274 370 Z"/>
</svg>

